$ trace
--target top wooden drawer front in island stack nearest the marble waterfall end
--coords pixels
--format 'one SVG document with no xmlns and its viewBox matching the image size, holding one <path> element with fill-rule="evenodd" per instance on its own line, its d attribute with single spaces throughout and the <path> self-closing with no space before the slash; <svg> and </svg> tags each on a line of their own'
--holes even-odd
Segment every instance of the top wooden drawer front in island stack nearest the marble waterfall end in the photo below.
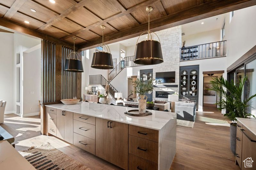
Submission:
<svg viewBox="0 0 256 170">
<path fill-rule="evenodd" d="M 129 135 L 158 142 L 158 130 L 129 125 Z"/>
</svg>

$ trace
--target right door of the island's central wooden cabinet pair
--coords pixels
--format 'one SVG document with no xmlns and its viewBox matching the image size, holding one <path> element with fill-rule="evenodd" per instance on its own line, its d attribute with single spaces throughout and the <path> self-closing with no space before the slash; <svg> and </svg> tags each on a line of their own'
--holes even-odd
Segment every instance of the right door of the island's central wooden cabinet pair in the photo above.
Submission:
<svg viewBox="0 0 256 170">
<path fill-rule="evenodd" d="M 110 162 L 123 169 L 128 169 L 128 129 L 128 124 L 110 122 Z"/>
</svg>

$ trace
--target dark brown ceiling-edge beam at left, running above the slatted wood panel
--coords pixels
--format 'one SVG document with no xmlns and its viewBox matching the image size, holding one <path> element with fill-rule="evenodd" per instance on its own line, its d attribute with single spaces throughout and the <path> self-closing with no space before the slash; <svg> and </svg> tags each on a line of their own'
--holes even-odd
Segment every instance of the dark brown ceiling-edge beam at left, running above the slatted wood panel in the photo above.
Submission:
<svg viewBox="0 0 256 170">
<path fill-rule="evenodd" d="M 28 35 L 32 35 L 32 36 L 35 36 L 35 37 L 38 37 L 38 38 L 41 38 L 41 39 L 44 39 L 44 40 L 53 41 L 55 43 L 73 48 L 73 44 L 68 42 L 68 41 L 60 40 L 58 38 L 55 38 L 55 37 L 52 37 L 50 35 L 41 33 L 39 31 L 36 31 L 36 30 L 32 29 L 32 28 L 22 26 L 20 24 L 15 23 L 15 22 L 8 21 L 8 20 L 3 19 L 3 18 L 0 18 L 0 25 L 4 26 L 6 28 L 10 28 L 12 30 L 18 31 L 20 33 L 25 33 L 25 34 L 28 34 Z"/>
</svg>

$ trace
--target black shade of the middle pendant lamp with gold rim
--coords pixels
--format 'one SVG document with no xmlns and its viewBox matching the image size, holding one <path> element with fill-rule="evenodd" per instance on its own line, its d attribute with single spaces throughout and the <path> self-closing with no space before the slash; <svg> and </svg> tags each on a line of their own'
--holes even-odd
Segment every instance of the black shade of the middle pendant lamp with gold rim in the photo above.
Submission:
<svg viewBox="0 0 256 170">
<path fill-rule="evenodd" d="M 113 69 L 112 55 L 107 52 L 94 52 L 92 57 L 92 68 L 94 69 Z"/>
</svg>

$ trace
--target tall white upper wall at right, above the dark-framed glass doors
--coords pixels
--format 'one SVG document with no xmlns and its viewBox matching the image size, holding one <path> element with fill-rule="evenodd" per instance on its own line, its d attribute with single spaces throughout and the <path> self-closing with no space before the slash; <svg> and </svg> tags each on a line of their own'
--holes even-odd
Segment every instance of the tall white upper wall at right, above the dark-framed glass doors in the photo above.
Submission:
<svg viewBox="0 0 256 170">
<path fill-rule="evenodd" d="M 229 13 L 225 17 L 227 40 L 227 67 L 234 63 L 256 44 L 256 6 L 237 10 L 229 24 Z"/>
</svg>

